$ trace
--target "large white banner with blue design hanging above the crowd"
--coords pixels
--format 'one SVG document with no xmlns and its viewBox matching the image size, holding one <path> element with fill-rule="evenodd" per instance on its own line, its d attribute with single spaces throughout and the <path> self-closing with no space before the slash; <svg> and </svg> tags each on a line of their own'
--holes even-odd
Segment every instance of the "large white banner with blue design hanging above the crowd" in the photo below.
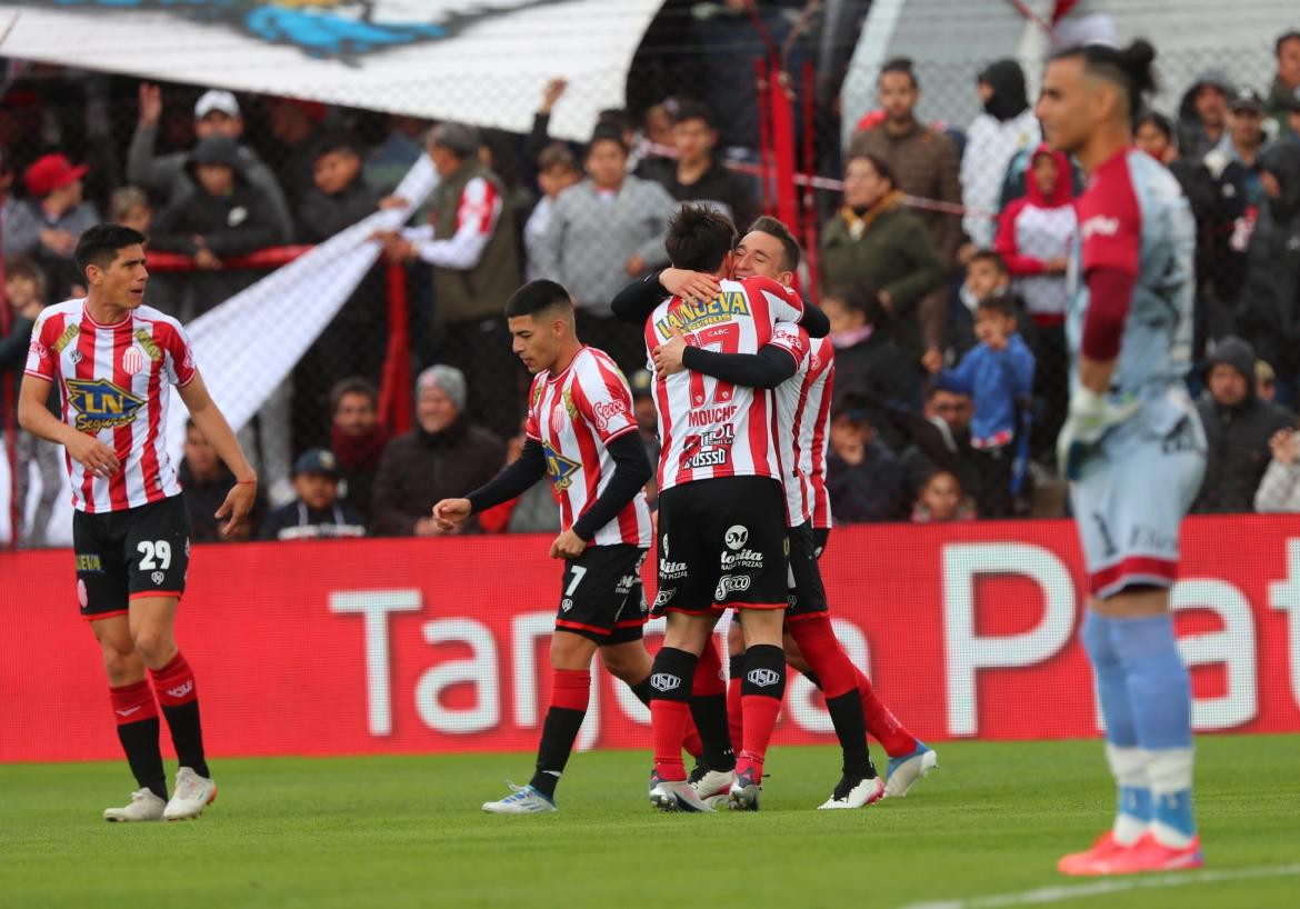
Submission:
<svg viewBox="0 0 1300 909">
<path fill-rule="evenodd" d="M 528 131 L 590 137 L 623 107 L 660 0 L 29 0 L 0 3 L 0 56 Z"/>
</svg>

